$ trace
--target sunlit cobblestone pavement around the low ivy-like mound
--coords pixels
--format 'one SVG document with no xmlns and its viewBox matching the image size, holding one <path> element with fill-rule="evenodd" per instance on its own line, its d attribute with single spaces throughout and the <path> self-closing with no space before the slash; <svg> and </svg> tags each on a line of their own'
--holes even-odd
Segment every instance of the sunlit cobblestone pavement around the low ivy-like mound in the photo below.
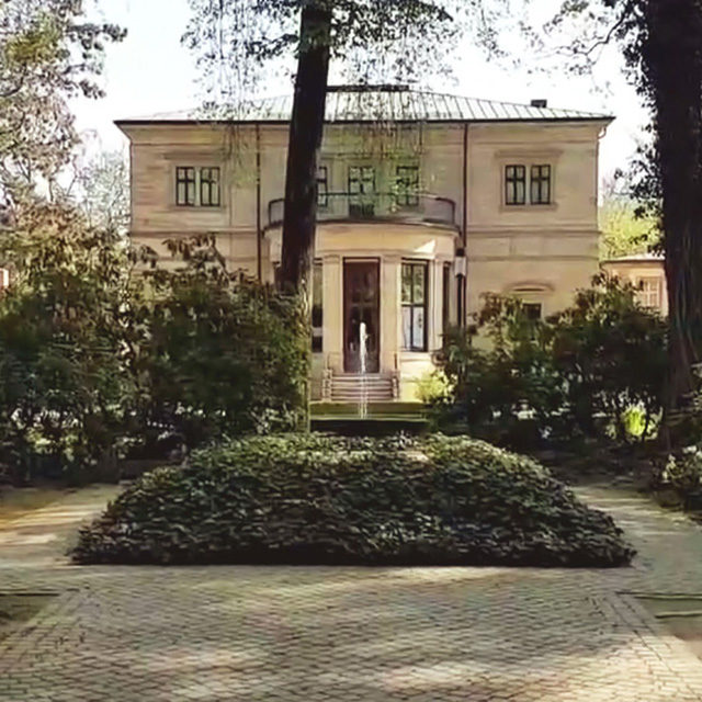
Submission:
<svg viewBox="0 0 702 702">
<path fill-rule="evenodd" d="M 0 701 L 687 702 L 702 663 L 632 593 L 702 592 L 702 530 L 587 488 L 615 570 L 73 567 L 91 488 L 0 531 L 0 592 L 55 592 L 0 643 Z"/>
</svg>

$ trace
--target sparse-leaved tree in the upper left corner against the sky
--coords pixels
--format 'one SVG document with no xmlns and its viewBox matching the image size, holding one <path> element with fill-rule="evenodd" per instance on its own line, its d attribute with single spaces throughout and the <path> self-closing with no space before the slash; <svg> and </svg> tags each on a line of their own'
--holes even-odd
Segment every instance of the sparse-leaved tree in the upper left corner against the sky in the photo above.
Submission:
<svg viewBox="0 0 702 702">
<path fill-rule="evenodd" d="M 78 143 L 68 100 L 100 98 L 105 41 L 125 33 L 86 19 L 82 0 L 0 4 L 0 203 L 50 188 Z"/>
</svg>

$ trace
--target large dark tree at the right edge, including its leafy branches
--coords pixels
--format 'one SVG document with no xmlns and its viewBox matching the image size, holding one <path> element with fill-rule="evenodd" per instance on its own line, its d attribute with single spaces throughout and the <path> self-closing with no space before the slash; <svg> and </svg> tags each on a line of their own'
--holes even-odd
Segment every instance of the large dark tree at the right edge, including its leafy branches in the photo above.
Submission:
<svg viewBox="0 0 702 702">
<path fill-rule="evenodd" d="M 671 424 L 688 407 L 702 362 L 702 2 L 564 0 L 532 38 L 558 44 L 562 65 L 565 58 L 581 72 L 618 44 L 650 110 L 634 193 L 660 216 L 670 303 L 665 427 L 675 441 Z"/>
</svg>

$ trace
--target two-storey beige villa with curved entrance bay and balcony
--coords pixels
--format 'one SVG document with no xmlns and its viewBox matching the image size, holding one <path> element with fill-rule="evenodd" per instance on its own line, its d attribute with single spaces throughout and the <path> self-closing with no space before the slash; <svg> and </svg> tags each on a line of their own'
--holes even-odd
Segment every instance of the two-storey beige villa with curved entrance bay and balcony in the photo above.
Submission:
<svg viewBox="0 0 702 702">
<path fill-rule="evenodd" d="M 220 118 L 117 122 L 131 140 L 132 236 L 216 235 L 233 270 L 275 279 L 292 98 Z M 418 91 L 332 87 L 318 172 L 313 395 L 416 397 L 450 325 L 485 293 L 541 316 L 598 271 L 598 151 L 611 117 Z"/>
</svg>

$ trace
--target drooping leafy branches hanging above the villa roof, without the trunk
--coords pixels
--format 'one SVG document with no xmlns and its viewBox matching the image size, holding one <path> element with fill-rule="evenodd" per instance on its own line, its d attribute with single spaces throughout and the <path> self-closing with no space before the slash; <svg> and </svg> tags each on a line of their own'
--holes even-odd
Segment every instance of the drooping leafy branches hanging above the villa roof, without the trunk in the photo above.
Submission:
<svg viewBox="0 0 702 702">
<path fill-rule="evenodd" d="M 330 50 L 351 80 L 426 81 L 444 75 L 445 58 L 464 32 L 498 49 L 496 26 L 529 0 L 190 0 L 183 43 L 196 56 L 208 106 L 246 104 L 272 73 L 305 46 L 299 13 L 331 12 Z M 310 37 L 310 42 L 319 37 Z"/>
</svg>

